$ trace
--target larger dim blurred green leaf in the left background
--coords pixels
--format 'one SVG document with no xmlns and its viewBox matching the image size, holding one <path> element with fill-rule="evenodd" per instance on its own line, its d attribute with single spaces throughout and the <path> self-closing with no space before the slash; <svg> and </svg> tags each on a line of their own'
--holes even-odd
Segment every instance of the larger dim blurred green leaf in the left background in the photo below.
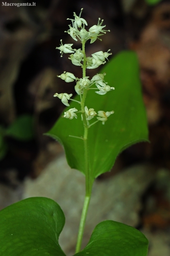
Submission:
<svg viewBox="0 0 170 256">
<path fill-rule="evenodd" d="M 31 140 L 33 133 L 33 116 L 28 114 L 19 116 L 6 130 L 6 135 L 17 140 Z"/>
</svg>

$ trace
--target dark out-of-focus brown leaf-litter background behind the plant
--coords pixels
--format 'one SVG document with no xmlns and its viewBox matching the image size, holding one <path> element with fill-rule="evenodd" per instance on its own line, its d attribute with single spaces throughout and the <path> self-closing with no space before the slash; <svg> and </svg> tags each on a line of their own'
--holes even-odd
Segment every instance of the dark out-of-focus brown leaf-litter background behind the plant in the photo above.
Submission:
<svg viewBox="0 0 170 256">
<path fill-rule="evenodd" d="M 56 200 L 68 216 L 62 248 L 68 256 L 74 253 L 84 178 L 70 171 L 62 147 L 43 133 L 64 108 L 54 93 L 75 93 L 74 82 L 67 84 L 57 75 L 63 71 L 82 75 L 81 68 L 70 65 L 68 55 L 60 57 L 56 46 L 63 39 L 80 47 L 64 31 L 70 24 L 67 18 L 72 19 L 73 12 L 79 15 L 83 7 L 88 26 L 100 17 L 111 31 L 102 42 L 87 43 L 87 55 L 108 49 L 112 57 L 121 50 L 137 53 L 151 142 L 126 149 L 111 172 L 98 177 L 88 219 L 133 225 L 149 238 L 149 256 L 169 256 L 170 1 L 156 5 L 145 0 L 34 1 L 35 6 L 27 7 L 0 4 L 0 209 L 30 196 Z M 24 1 L 7 1 L 12 2 Z M 89 223 L 84 244 L 90 234 Z"/>
</svg>

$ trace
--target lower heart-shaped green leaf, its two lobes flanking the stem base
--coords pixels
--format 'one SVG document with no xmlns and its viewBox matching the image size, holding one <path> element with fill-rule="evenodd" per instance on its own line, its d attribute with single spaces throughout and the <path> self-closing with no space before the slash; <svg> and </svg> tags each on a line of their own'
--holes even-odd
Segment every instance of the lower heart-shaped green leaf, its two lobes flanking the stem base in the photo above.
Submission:
<svg viewBox="0 0 170 256">
<path fill-rule="evenodd" d="M 65 217 L 60 206 L 32 197 L 0 211 L 0 255 L 65 256 L 58 244 Z M 75 256 L 147 256 L 148 240 L 135 228 L 112 220 L 99 223 Z"/>
</svg>

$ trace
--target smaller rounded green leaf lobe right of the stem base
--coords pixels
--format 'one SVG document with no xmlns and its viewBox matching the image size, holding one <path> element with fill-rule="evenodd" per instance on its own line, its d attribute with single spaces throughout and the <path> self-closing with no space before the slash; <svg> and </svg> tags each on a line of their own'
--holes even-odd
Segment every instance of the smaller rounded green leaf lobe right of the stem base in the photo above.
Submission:
<svg viewBox="0 0 170 256">
<path fill-rule="evenodd" d="M 105 220 L 99 223 L 87 246 L 75 256 L 147 256 L 148 240 L 137 229 Z"/>
</svg>

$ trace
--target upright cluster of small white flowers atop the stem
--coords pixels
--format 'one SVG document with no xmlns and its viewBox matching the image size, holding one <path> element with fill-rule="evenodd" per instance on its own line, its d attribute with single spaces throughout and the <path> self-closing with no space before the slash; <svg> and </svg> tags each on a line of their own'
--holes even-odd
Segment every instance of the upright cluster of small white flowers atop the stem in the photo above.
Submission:
<svg viewBox="0 0 170 256">
<path fill-rule="evenodd" d="M 64 80 L 66 83 L 70 83 L 73 81 L 76 81 L 75 85 L 75 91 L 78 95 L 80 95 L 80 102 L 77 100 L 70 99 L 72 97 L 72 94 L 67 94 L 67 93 L 55 93 L 54 97 L 58 97 L 65 106 L 70 106 L 68 103 L 68 100 L 73 100 L 81 104 L 81 110 L 78 111 L 78 109 L 71 108 L 68 109 L 67 111 L 64 112 L 64 115 L 62 116 L 63 118 L 66 119 L 77 119 L 77 114 L 76 113 L 82 113 L 84 115 L 84 120 L 87 123 L 88 128 L 93 125 L 93 123 L 89 124 L 89 121 L 93 119 L 95 116 L 97 116 L 97 121 L 102 121 L 102 124 L 105 124 L 105 121 L 107 121 L 107 118 L 114 113 L 114 111 L 98 111 L 98 114 L 93 108 L 89 108 L 87 106 L 84 107 L 85 103 L 85 98 L 88 90 L 94 89 L 96 90 L 95 92 L 98 95 L 105 95 L 107 92 L 114 90 L 114 87 L 109 86 L 105 80 L 104 76 L 105 73 L 99 73 L 93 76 L 90 80 L 89 76 L 86 76 L 86 69 L 95 69 L 98 68 L 100 65 L 103 65 L 106 63 L 106 59 L 108 60 L 109 55 L 112 55 L 112 53 L 109 53 L 110 49 L 107 52 L 95 52 L 91 55 L 91 57 L 86 57 L 85 54 L 85 43 L 87 40 L 90 40 L 90 43 L 94 43 L 95 40 L 99 39 L 99 37 L 104 35 L 107 31 L 105 30 L 105 25 L 102 26 L 103 20 L 98 19 L 98 24 L 92 26 L 88 30 L 86 30 L 85 26 L 87 26 L 87 22 L 85 19 L 81 17 L 82 15 L 82 10 L 77 16 L 77 14 L 74 12 L 74 19 L 68 19 L 72 21 L 72 24 L 69 25 L 68 31 L 65 31 L 68 33 L 72 39 L 75 41 L 80 40 L 82 43 L 82 49 L 79 48 L 78 50 L 73 49 L 72 45 L 73 44 L 64 44 L 61 40 L 61 45 L 60 47 L 56 47 L 56 49 L 60 50 L 61 57 L 63 56 L 63 53 L 71 53 L 68 59 L 71 60 L 72 64 L 75 66 L 81 66 L 83 69 L 83 77 L 82 78 L 76 78 L 73 73 L 66 72 L 64 71 L 61 75 L 58 77 Z M 93 87 L 95 88 L 92 88 Z M 98 90 L 98 91 L 97 91 Z M 82 103 L 83 101 L 83 103 Z M 83 106 L 83 107 L 82 107 Z"/>
</svg>

